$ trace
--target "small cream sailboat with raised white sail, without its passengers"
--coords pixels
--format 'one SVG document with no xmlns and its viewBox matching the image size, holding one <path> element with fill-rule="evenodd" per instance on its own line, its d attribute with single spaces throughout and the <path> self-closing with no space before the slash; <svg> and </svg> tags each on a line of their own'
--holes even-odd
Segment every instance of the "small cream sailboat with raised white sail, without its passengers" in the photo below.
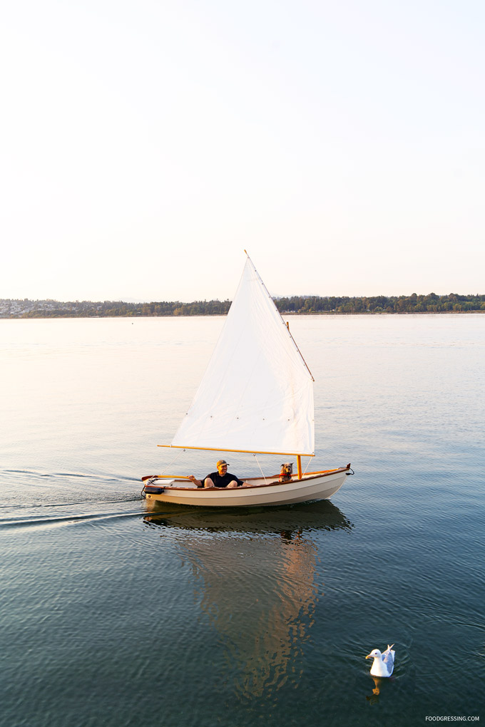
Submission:
<svg viewBox="0 0 485 727">
<path fill-rule="evenodd" d="M 313 381 L 246 253 L 239 287 L 199 389 L 172 443 L 159 446 L 277 454 L 296 459 L 297 471 L 244 478 L 245 484 L 233 489 L 200 488 L 187 475 L 145 475 L 147 503 L 260 507 L 332 497 L 353 474 L 350 464 L 302 472 L 302 457 L 315 456 Z"/>
</svg>

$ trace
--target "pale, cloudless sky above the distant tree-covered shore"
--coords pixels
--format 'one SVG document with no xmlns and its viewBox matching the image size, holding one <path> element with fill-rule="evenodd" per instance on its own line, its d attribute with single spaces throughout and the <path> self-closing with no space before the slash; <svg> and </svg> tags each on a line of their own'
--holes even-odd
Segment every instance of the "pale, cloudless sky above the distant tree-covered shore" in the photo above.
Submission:
<svg viewBox="0 0 485 727">
<path fill-rule="evenodd" d="M 0 298 L 484 293 L 483 0 L 15 0 Z"/>
</svg>

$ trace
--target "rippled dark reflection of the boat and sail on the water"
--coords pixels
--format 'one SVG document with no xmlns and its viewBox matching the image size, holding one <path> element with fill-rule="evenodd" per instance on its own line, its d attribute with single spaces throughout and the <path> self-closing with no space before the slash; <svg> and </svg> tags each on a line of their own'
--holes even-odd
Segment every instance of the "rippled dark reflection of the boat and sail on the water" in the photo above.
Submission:
<svg viewBox="0 0 485 727">
<path fill-rule="evenodd" d="M 353 529 L 329 500 L 221 510 L 161 506 L 144 518 L 170 535 L 194 577 L 207 648 L 243 702 L 297 685 L 318 598 L 323 531 Z M 214 636 L 216 644 L 214 644 Z M 220 650 L 222 648 L 222 654 Z"/>
</svg>

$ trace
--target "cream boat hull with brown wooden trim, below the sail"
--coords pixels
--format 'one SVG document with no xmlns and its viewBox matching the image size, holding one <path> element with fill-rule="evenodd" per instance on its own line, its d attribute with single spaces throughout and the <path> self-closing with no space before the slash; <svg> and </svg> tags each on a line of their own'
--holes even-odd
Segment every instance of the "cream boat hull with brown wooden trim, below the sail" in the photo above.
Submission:
<svg viewBox="0 0 485 727">
<path fill-rule="evenodd" d="M 328 499 L 342 487 L 345 478 L 351 474 L 350 465 L 337 470 L 310 473 L 301 480 L 296 477 L 291 482 L 278 482 L 274 478 L 254 478 L 246 480 L 251 486 L 233 489 L 198 488 L 187 486 L 184 480 L 171 480 L 157 483 L 162 491 L 145 491 L 148 506 L 159 502 L 172 502 L 175 505 L 196 507 L 261 507 L 262 505 L 292 505 L 295 502 Z M 277 477 L 278 475 L 276 475 Z M 150 481 L 153 489 L 153 480 Z"/>
</svg>

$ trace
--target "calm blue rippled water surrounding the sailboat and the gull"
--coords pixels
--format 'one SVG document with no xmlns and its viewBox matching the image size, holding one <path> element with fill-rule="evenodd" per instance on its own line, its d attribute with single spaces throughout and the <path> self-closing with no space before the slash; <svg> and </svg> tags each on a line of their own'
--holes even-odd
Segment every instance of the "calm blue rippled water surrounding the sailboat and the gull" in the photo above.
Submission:
<svg viewBox="0 0 485 727">
<path fill-rule="evenodd" d="M 0 321 L 1 726 L 485 720 L 485 316 L 291 318 L 311 467 L 356 475 L 332 502 L 148 513 L 142 475 L 218 458 L 156 445 L 222 324 Z"/>
</svg>

